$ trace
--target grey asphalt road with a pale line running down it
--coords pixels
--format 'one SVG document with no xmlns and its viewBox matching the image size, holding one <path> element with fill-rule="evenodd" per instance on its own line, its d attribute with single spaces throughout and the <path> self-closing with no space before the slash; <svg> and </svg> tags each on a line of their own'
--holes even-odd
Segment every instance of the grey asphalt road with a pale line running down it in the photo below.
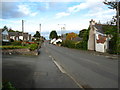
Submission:
<svg viewBox="0 0 120 90">
<path fill-rule="evenodd" d="M 118 88 L 118 60 L 44 43 L 39 56 L 3 56 L 3 79 L 26 88 Z"/>
</svg>

